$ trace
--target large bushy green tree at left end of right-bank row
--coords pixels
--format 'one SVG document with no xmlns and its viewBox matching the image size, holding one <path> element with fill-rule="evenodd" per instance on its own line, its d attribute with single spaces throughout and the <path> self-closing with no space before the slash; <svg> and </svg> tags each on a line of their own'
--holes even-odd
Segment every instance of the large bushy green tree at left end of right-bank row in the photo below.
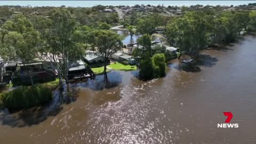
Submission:
<svg viewBox="0 0 256 144">
<path fill-rule="evenodd" d="M 165 33 L 167 40 L 190 56 L 198 55 L 207 44 L 209 33 L 205 13 L 187 12 L 183 17 L 169 23 Z"/>
</svg>

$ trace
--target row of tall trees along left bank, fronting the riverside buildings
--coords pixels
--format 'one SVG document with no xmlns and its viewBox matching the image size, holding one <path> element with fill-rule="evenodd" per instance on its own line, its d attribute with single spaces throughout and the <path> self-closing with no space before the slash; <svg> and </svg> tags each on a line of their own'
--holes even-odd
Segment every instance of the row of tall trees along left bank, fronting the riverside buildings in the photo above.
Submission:
<svg viewBox="0 0 256 144">
<path fill-rule="evenodd" d="M 70 61 L 81 59 L 87 44 L 98 47 L 104 60 L 122 46 L 119 36 L 105 30 L 106 23 L 92 28 L 81 23 L 67 9 L 51 10 L 51 17 L 13 15 L 1 26 L 0 55 L 5 61 L 21 61 L 23 65 L 36 58 L 50 60 L 58 71 L 59 84 L 68 84 Z M 108 26 L 108 25 L 107 25 Z M 105 74 L 106 74 L 105 62 Z M 31 70 L 25 65 L 34 85 Z M 67 85 L 68 86 L 68 85 Z"/>
</svg>

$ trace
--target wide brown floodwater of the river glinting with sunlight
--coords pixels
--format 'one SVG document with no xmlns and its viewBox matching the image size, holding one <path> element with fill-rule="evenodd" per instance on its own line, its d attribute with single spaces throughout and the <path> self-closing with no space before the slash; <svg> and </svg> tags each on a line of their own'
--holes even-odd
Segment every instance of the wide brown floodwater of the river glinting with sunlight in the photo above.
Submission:
<svg viewBox="0 0 256 144">
<path fill-rule="evenodd" d="M 195 67 L 164 78 L 111 71 L 71 84 L 73 98 L 0 113 L 0 143 L 256 143 L 256 37 L 205 50 Z M 56 92 L 58 93 L 58 92 Z M 74 101 L 74 102 L 72 102 Z M 223 111 L 238 128 L 218 128 Z"/>
</svg>

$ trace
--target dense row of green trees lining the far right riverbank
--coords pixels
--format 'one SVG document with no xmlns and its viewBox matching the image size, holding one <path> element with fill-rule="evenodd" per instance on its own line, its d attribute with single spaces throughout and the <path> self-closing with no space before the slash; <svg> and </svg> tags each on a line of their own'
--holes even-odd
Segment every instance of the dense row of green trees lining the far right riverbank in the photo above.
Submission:
<svg viewBox="0 0 256 144">
<path fill-rule="evenodd" d="M 165 28 L 167 41 L 188 55 L 205 46 L 230 43 L 244 30 L 255 29 L 255 11 L 193 11 L 172 19 Z"/>
</svg>

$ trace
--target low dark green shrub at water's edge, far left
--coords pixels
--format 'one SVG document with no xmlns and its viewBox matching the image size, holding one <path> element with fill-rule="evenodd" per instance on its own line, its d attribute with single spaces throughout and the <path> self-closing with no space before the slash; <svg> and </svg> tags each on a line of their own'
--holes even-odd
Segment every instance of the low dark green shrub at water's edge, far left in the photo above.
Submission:
<svg viewBox="0 0 256 144">
<path fill-rule="evenodd" d="M 29 108 L 38 106 L 52 98 L 52 91 L 46 86 L 19 86 L 10 92 L 2 93 L 0 99 L 7 108 Z"/>
</svg>

